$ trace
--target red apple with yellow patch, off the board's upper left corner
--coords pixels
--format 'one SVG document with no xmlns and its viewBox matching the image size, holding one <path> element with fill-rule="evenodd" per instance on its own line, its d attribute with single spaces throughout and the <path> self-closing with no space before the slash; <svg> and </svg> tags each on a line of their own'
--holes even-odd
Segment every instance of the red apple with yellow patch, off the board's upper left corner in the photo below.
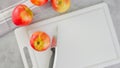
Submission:
<svg viewBox="0 0 120 68">
<path fill-rule="evenodd" d="M 17 5 L 12 12 L 12 21 L 16 26 L 27 26 L 32 19 L 32 11 L 24 4 Z"/>
</svg>

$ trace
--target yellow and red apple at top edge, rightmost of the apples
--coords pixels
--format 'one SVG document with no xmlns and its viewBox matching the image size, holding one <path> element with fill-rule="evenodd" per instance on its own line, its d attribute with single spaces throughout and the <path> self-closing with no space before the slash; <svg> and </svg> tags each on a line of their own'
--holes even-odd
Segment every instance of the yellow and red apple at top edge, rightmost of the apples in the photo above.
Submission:
<svg viewBox="0 0 120 68">
<path fill-rule="evenodd" d="M 52 7 L 59 13 L 64 13 L 70 8 L 70 0 L 51 0 Z"/>
</svg>

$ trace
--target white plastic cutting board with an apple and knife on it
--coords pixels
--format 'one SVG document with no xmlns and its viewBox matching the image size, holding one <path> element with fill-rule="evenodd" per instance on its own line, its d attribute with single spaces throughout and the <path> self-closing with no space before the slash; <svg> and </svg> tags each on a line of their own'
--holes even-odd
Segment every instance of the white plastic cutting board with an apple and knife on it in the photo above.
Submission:
<svg viewBox="0 0 120 68">
<path fill-rule="evenodd" d="M 45 31 L 52 38 L 56 29 L 54 68 L 104 68 L 120 62 L 120 47 L 108 7 L 100 3 L 16 29 L 25 68 L 48 68 L 51 51 L 33 50 L 29 38 L 38 30 Z M 26 59 L 24 48 L 28 48 L 31 60 Z"/>
</svg>

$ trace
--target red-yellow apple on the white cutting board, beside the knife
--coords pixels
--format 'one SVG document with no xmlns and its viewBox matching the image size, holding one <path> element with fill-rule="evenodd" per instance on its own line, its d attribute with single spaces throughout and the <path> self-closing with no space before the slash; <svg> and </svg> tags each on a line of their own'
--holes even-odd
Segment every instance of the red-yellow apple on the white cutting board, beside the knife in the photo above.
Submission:
<svg viewBox="0 0 120 68">
<path fill-rule="evenodd" d="M 30 44 L 36 51 L 45 51 L 50 46 L 50 37 L 45 32 L 37 31 L 32 34 Z"/>
</svg>

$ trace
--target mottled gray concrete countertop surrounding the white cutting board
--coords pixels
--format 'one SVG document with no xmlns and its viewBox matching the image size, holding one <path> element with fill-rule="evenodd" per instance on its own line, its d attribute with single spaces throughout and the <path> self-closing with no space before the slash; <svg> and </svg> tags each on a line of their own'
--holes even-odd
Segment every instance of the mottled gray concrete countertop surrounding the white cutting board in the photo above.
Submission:
<svg viewBox="0 0 120 68">
<path fill-rule="evenodd" d="M 77 9 L 82 9 L 100 2 L 106 2 L 109 6 L 113 23 L 120 42 L 120 0 L 71 0 L 71 1 L 72 1 L 71 8 L 68 12 Z M 0 6 L 2 6 L 2 4 L 4 3 L 9 4 L 10 2 L 8 2 L 8 0 L 0 0 Z M 0 7 L 0 10 L 1 9 L 3 8 Z M 50 4 L 40 7 L 39 9 L 40 18 L 36 19 L 35 21 L 41 21 L 60 15 L 53 11 Z M 33 11 L 37 13 L 38 10 L 34 9 Z M 22 58 L 20 56 L 20 52 L 18 49 L 17 41 L 14 35 L 14 30 L 0 37 L 0 68 L 24 68 Z M 120 68 L 120 64 L 113 65 L 108 68 Z"/>
</svg>

